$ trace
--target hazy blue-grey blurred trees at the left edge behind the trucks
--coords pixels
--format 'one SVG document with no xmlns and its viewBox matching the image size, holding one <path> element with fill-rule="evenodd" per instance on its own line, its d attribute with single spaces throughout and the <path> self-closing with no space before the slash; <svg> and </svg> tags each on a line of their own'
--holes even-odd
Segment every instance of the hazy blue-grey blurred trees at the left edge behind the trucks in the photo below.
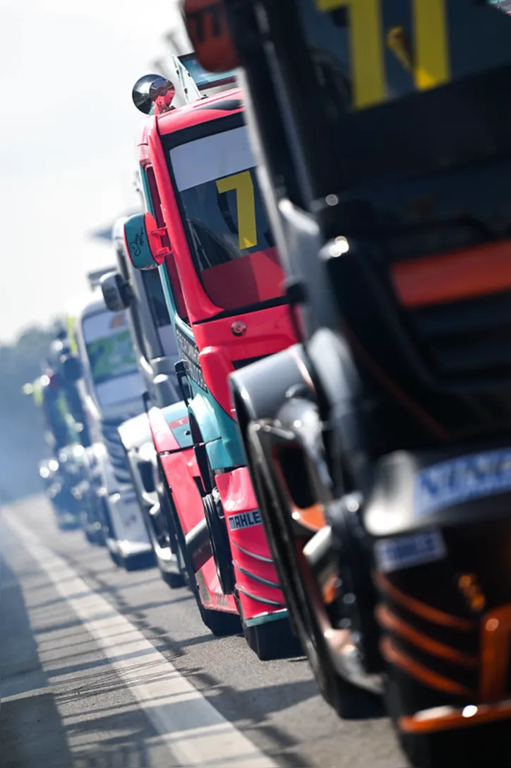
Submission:
<svg viewBox="0 0 511 768">
<path fill-rule="evenodd" d="M 0 503 L 41 491 L 38 462 L 48 453 L 34 399 L 22 392 L 41 375 L 54 328 L 27 329 L 13 344 L 0 344 Z"/>
</svg>

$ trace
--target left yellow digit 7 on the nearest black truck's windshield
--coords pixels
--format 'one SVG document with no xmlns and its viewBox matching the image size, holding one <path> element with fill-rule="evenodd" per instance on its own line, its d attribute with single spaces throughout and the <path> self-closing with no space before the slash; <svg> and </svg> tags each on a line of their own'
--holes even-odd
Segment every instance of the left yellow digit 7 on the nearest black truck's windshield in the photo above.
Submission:
<svg viewBox="0 0 511 768">
<path fill-rule="evenodd" d="M 384 35 L 380 0 L 315 0 L 321 12 L 350 8 L 351 73 L 354 107 L 362 109 L 384 101 Z"/>
</svg>

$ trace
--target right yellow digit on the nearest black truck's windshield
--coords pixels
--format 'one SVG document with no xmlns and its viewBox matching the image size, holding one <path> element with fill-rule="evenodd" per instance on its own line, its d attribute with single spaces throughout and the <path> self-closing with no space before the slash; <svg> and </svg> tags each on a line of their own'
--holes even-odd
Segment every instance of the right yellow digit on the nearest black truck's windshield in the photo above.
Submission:
<svg viewBox="0 0 511 768">
<path fill-rule="evenodd" d="M 450 79 L 445 0 L 414 0 L 415 84 L 420 91 Z"/>
</svg>

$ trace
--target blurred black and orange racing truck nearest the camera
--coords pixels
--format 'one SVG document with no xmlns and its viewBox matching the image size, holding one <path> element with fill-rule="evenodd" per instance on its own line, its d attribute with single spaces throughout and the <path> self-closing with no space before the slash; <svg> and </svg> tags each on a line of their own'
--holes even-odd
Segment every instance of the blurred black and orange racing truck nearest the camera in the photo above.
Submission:
<svg viewBox="0 0 511 768">
<path fill-rule="evenodd" d="M 186 10 L 203 66 L 244 70 L 302 333 L 232 390 L 312 668 L 414 766 L 506 765 L 509 3 Z"/>
</svg>

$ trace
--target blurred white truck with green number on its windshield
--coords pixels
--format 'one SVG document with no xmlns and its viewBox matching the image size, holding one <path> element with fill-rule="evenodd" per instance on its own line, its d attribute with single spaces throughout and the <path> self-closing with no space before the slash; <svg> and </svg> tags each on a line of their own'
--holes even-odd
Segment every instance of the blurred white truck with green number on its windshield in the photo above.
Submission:
<svg viewBox="0 0 511 768">
<path fill-rule="evenodd" d="M 125 311 L 111 313 L 99 280 L 90 273 L 92 295 L 74 303 L 69 325 L 82 378 L 81 402 L 91 432 L 87 450 L 90 492 L 111 559 L 128 571 L 151 564 L 150 539 L 120 440 L 120 425 L 143 412 L 143 380 Z"/>
</svg>

